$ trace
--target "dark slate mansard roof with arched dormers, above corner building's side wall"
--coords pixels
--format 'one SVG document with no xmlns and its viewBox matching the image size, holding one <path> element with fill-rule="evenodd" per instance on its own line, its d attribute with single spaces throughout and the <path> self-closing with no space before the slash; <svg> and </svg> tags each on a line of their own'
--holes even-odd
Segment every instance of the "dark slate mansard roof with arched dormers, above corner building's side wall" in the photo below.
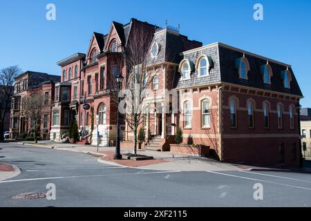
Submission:
<svg viewBox="0 0 311 221">
<path fill-rule="evenodd" d="M 280 61 L 275 61 L 261 55 L 256 55 L 252 52 L 247 52 L 226 44 L 214 43 L 200 48 L 194 48 L 180 53 L 183 59 L 188 59 L 194 64 L 202 56 L 211 57 L 214 62 L 214 67 L 211 68 L 209 76 L 198 77 L 198 70 L 191 73 L 191 78 L 188 80 L 178 80 L 177 88 L 187 88 L 196 86 L 205 86 L 208 84 L 216 84 L 225 82 L 229 84 L 236 84 L 240 86 L 247 86 L 263 90 L 270 90 L 279 93 L 287 93 L 302 97 L 301 89 L 296 81 L 292 67 Z M 236 61 L 245 57 L 249 63 L 249 71 L 247 72 L 247 79 L 243 79 L 238 75 L 238 68 L 236 68 Z M 261 73 L 261 66 L 269 64 L 272 68 L 273 75 L 271 77 L 271 84 L 263 82 L 263 75 Z M 283 86 L 283 71 L 288 70 L 291 75 L 290 88 Z M 180 77 L 180 76 L 178 76 Z"/>
</svg>

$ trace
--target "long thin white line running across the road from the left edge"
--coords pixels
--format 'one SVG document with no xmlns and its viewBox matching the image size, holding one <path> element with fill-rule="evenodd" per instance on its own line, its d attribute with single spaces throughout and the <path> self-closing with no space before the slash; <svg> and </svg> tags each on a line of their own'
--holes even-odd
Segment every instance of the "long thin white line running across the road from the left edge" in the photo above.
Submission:
<svg viewBox="0 0 311 221">
<path fill-rule="evenodd" d="M 144 174 L 158 174 L 158 173 L 180 173 L 181 171 L 157 171 L 157 172 L 145 172 L 145 173 L 121 173 L 121 174 L 109 174 L 109 175 L 73 175 L 68 177 L 41 177 L 41 178 L 30 178 L 21 180 L 4 180 L 1 183 L 11 183 L 11 182 L 24 182 L 24 181 L 35 181 L 35 180 L 59 180 L 59 179 L 73 179 L 73 178 L 83 178 L 83 177 L 111 177 L 120 175 L 144 175 Z"/>
</svg>

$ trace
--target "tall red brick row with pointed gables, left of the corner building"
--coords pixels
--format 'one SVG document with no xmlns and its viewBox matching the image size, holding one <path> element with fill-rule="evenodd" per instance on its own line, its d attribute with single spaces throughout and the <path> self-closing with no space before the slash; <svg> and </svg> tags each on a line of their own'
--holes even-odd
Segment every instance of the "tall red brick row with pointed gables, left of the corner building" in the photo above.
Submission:
<svg viewBox="0 0 311 221">
<path fill-rule="evenodd" d="M 86 54 L 77 53 L 57 63 L 62 67 L 62 82 L 56 84 L 55 91 L 59 93 L 56 97 L 59 99 L 55 100 L 53 107 L 55 120 L 50 140 L 62 140 L 62 135 L 69 129 L 68 119 L 75 115 L 80 131 L 87 137 L 84 143 L 97 144 L 98 127 L 100 146 L 114 144 L 116 115 L 113 113 L 116 113 L 116 104 L 111 93 L 115 89 L 115 84 L 112 84 L 114 76 L 117 73 L 126 76 L 121 52 L 135 32 L 143 32 L 144 37 L 151 41 L 155 30 L 156 26 L 137 19 L 126 24 L 113 21 L 108 34 L 93 33 Z M 95 119 L 93 131 L 91 109 L 84 110 L 84 102 L 94 108 L 95 116 L 99 116 L 99 125 Z M 124 122 L 121 124 L 124 131 Z"/>
</svg>

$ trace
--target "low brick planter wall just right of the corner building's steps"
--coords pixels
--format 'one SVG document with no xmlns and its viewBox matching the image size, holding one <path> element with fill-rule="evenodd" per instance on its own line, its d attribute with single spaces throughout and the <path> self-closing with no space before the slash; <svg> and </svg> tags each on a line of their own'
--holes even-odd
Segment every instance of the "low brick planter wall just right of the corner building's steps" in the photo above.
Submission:
<svg viewBox="0 0 311 221">
<path fill-rule="evenodd" d="M 209 146 L 205 145 L 188 145 L 188 144 L 170 144 L 171 153 L 194 155 L 205 157 L 209 155 Z"/>
</svg>

